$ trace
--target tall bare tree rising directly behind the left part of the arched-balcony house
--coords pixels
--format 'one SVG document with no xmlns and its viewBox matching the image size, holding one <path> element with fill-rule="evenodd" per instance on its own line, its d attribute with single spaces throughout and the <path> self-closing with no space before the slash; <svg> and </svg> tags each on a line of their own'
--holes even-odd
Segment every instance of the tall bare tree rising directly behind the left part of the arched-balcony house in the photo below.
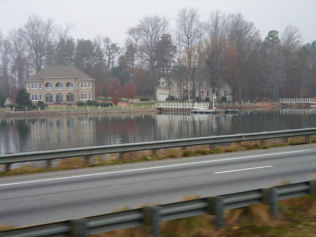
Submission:
<svg viewBox="0 0 316 237">
<path fill-rule="evenodd" d="M 42 69 L 47 46 L 54 38 L 52 19 L 44 22 L 40 16 L 29 16 L 28 22 L 21 31 L 23 40 L 29 46 L 36 72 Z"/>
</svg>

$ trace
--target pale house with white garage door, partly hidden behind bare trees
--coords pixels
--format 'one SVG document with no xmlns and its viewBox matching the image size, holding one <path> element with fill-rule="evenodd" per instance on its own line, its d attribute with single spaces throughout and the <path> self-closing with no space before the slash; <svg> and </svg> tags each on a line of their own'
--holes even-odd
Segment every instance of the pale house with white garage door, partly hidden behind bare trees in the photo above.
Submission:
<svg viewBox="0 0 316 237">
<path fill-rule="evenodd" d="M 186 90 L 185 88 L 179 88 L 177 86 L 177 82 L 173 81 L 172 78 L 169 80 L 169 82 L 170 83 L 168 83 L 168 80 L 165 80 L 165 78 L 163 77 L 160 78 L 159 85 L 156 86 L 157 100 L 166 100 L 166 98 L 169 97 L 169 93 L 171 96 L 179 98 L 180 91 L 182 92 L 183 99 L 188 99 L 190 97 L 190 100 L 192 100 L 193 98 L 195 99 L 196 96 L 198 96 L 199 94 L 202 100 L 204 100 L 206 97 L 208 97 L 210 100 L 213 99 L 212 87 L 207 81 L 200 81 L 199 84 L 195 87 L 195 92 L 193 90 L 190 90 L 190 92 L 188 92 L 188 90 Z M 217 91 L 217 94 L 214 96 L 218 98 L 218 100 L 225 96 L 227 97 L 227 101 L 231 101 L 232 97 L 229 85 L 227 83 L 222 85 L 222 87 Z"/>
</svg>

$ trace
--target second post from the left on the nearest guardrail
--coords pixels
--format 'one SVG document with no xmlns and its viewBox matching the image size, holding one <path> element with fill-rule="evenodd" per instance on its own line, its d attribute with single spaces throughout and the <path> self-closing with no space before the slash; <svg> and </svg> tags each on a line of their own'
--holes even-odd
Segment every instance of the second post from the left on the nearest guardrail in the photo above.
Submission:
<svg viewBox="0 0 316 237">
<path fill-rule="evenodd" d="M 150 235 L 160 237 L 160 206 L 145 206 L 145 225 L 150 226 Z"/>
</svg>

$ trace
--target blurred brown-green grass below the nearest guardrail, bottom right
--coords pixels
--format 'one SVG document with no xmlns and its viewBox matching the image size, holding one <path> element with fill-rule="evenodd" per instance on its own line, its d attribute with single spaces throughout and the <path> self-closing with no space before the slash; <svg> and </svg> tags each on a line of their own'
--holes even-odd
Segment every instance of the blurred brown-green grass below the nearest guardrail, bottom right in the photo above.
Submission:
<svg viewBox="0 0 316 237">
<path fill-rule="evenodd" d="M 185 200 L 192 198 L 185 198 Z M 226 228 L 217 230 L 215 217 L 201 215 L 166 221 L 161 225 L 162 237 L 233 237 L 233 236 L 316 236 L 316 197 L 306 196 L 279 202 L 280 216 L 269 215 L 264 204 L 226 210 Z M 123 208 L 128 209 L 128 208 Z M 121 210 L 123 210 L 121 209 Z M 119 211 L 119 210 L 117 210 Z M 134 227 L 93 237 L 149 236 L 148 227 Z"/>
</svg>

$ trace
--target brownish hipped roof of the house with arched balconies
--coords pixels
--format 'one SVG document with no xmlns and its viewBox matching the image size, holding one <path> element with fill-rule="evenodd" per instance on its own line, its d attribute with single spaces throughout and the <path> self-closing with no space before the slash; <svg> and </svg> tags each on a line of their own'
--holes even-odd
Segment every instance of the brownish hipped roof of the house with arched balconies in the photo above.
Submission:
<svg viewBox="0 0 316 237">
<path fill-rule="evenodd" d="M 28 81 L 43 81 L 43 78 L 75 78 L 75 80 L 95 81 L 92 77 L 74 66 L 50 66 L 31 76 Z"/>
</svg>

